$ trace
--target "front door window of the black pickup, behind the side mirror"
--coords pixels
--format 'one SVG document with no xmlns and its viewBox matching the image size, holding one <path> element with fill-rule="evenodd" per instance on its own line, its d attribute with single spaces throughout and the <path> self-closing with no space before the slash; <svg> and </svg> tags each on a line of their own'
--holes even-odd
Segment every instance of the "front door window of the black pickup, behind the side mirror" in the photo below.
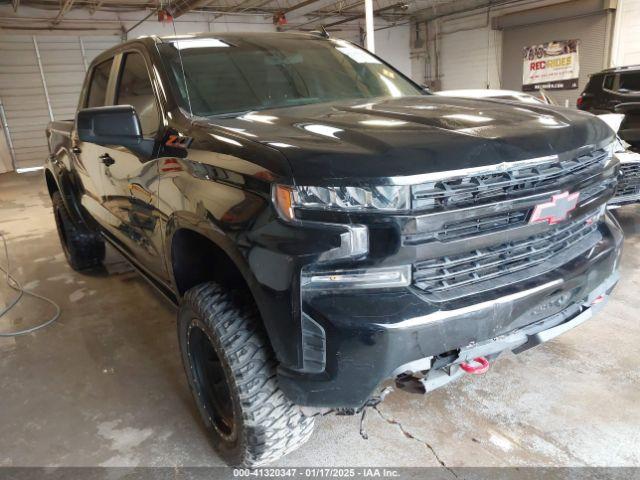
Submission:
<svg viewBox="0 0 640 480">
<path fill-rule="evenodd" d="M 139 53 L 127 53 L 124 57 L 116 105 L 133 106 L 140 117 L 143 136 L 155 136 L 160 124 L 160 112 L 144 58 Z"/>
</svg>

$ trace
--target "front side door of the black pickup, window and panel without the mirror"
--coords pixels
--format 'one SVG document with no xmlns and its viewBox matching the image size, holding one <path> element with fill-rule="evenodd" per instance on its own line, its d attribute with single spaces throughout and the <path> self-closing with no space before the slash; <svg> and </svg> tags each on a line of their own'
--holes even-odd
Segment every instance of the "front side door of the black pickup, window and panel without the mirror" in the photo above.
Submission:
<svg viewBox="0 0 640 480">
<path fill-rule="evenodd" d="M 133 106 L 145 139 L 158 141 L 164 131 L 150 61 L 142 51 L 129 50 L 119 54 L 116 63 L 112 104 Z M 140 267 L 166 282 L 158 216 L 157 156 L 119 146 L 98 150 L 108 232 Z"/>
</svg>

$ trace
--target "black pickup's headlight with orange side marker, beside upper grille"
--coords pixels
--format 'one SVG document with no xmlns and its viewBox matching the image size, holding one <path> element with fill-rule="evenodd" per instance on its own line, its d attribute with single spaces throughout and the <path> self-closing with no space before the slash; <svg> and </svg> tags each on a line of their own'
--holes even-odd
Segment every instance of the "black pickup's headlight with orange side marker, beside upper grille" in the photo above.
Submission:
<svg viewBox="0 0 640 480">
<path fill-rule="evenodd" d="M 411 187 L 288 187 L 276 185 L 274 199 L 280 212 L 293 218 L 294 208 L 333 211 L 399 211 L 411 207 Z"/>
</svg>

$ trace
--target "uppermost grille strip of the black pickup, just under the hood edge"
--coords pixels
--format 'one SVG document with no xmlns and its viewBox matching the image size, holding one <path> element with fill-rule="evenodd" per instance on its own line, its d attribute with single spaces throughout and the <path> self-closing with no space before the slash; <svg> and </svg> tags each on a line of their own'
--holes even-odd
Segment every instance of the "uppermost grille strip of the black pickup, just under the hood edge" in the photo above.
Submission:
<svg viewBox="0 0 640 480">
<path fill-rule="evenodd" d="M 545 160 L 534 164 L 515 162 L 503 171 L 493 169 L 414 185 L 412 208 L 462 208 L 539 193 L 571 181 L 576 175 L 600 172 L 607 157 L 608 153 L 600 149 L 571 160 Z"/>
</svg>

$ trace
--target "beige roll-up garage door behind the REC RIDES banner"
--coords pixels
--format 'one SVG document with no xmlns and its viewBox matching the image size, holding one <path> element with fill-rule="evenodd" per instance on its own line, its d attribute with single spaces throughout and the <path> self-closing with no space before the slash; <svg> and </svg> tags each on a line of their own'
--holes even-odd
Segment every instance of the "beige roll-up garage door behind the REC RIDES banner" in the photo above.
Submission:
<svg viewBox="0 0 640 480">
<path fill-rule="evenodd" d="M 522 90 L 522 49 L 554 40 L 579 39 L 580 78 L 576 90 L 554 90 L 551 97 L 561 105 L 575 106 L 590 74 L 606 67 L 607 14 L 507 29 L 502 41 L 502 87 Z"/>
</svg>

